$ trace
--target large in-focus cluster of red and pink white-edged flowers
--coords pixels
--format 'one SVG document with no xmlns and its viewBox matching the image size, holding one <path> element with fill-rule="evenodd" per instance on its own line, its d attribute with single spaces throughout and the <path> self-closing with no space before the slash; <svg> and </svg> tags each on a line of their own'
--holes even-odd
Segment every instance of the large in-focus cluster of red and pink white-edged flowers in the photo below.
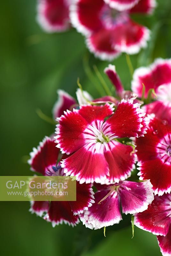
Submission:
<svg viewBox="0 0 171 256">
<path fill-rule="evenodd" d="M 105 2 L 115 7 L 118 1 Z M 138 1 L 126 2 L 121 9 Z M 99 229 L 119 223 L 122 206 L 136 226 L 157 235 L 162 254 L 171 255 L 171 60 L 138 68 L 132 92 L 124 90 L 115 66 L 104 72 L 116 97 L 93 99 L 78 89 L 76 101 L 59 90 L 56 134 L 33 148 L 29 160 L 41 175 L 76 176 L 77 200 L 32 202 L 30 211 L 53 226 L 81 220 Z M 135 165 L 138 182 L 131 176 Z"/>
</svg>

